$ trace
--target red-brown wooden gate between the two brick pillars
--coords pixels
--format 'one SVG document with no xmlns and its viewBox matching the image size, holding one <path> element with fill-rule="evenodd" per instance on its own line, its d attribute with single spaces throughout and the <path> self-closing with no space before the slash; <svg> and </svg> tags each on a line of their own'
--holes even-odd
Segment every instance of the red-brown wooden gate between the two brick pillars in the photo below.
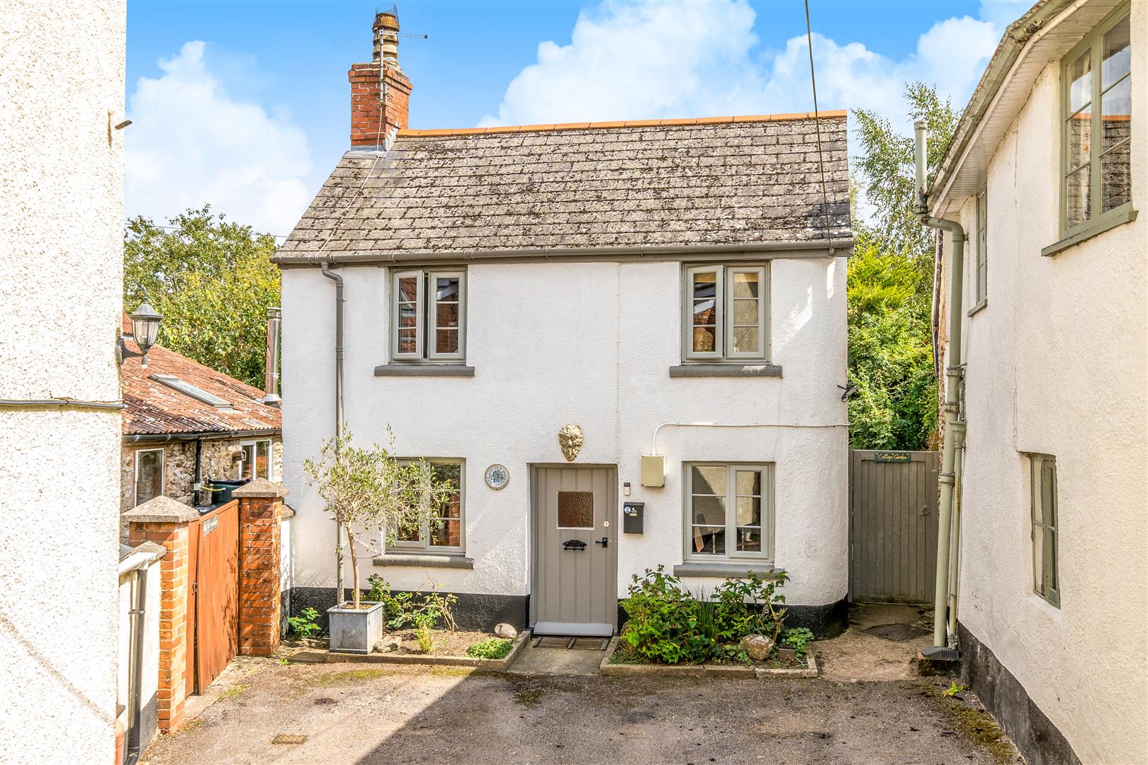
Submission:
<svg viewBox="0 0 1148 765">
<path fill-rule="evenodd" d="M 187 695 L 239 653 L 239 500 L 188 524 Z"/>
</svg>

